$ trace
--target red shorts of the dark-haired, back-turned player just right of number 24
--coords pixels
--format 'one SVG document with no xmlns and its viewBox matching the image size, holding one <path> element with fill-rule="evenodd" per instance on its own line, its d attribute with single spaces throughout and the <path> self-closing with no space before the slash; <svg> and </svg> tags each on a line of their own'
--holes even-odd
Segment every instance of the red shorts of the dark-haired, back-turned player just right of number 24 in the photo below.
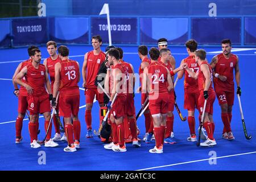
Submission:
<svg viewBox="0 0 256 182">
<path fill-rule="evenodd" d="M 199 92 L 184 91 L 184 109 L 195 110 L 198 108 Z"/>
</svg>

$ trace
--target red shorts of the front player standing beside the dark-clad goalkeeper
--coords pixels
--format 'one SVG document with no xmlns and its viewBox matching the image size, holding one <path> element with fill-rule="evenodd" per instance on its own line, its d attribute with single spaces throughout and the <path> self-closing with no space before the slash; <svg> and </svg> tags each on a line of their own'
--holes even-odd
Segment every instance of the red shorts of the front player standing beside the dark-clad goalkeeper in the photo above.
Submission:
<svg viewBox="0 0 256 182">
<path fill-rule="evenodd" d="M 114 118 L 125 117 L 125 104 L 126 94 L 118 94 L 112 109 L 110 110 L 110 114 L 113 114 Z"/>
</svg>

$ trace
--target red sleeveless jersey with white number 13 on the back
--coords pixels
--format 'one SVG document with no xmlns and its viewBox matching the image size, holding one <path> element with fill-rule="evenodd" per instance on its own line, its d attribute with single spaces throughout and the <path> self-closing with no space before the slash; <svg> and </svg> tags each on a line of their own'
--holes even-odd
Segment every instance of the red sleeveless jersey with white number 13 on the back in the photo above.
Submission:
<svg viewBox="0 0 256 182">
<path fill-rule="evenodd" d="M 61 96 L 71 96 L 79 94 L 79 66 L 76 61 L 62 60 L 60 71 L 60 93 Z"/>
</svg>

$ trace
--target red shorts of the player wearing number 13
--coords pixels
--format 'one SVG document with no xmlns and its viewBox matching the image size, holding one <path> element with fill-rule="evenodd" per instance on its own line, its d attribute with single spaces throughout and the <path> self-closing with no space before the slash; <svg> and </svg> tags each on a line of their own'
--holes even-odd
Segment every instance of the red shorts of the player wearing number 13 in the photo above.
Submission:
<svg viewBox="0 0 256 182">
<path fill-rule="evenodd" d="M 71 118 L 72 115 L 77 116 L 79 113 L 80 95 L 61 96 L 59 99 L 60 116 Z"/>
</svg>

